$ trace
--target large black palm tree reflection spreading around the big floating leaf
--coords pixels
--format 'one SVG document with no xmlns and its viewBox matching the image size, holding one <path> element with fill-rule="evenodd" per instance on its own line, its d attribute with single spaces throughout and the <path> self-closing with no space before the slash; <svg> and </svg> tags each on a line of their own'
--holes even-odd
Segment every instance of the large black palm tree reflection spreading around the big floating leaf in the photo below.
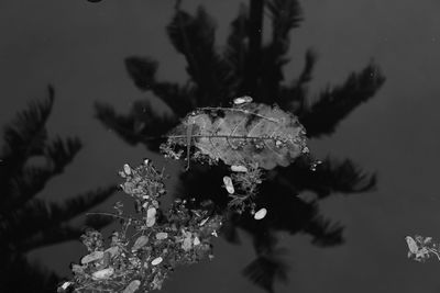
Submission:
<svg viewBox="0 0 440 293">
<path fill-rule="evenodd" d="M 264 16 L 268 15 L 268 16 Z M 272 22 L 271 40 L 262 42 L 263 21 Z M 316 54 L 305 54 L 305 66 L 298 78 L 285 82 L 283 69 L 289 63 L 289 33 L 302 21 L 298 1 L 251 0 L 241 5 L 232 21 L 224 50 L 215 49 L 216 27 L 207 11 L 199 7 L 193 15 L 180 9 L 167 25 L 167 34 L 176 50 L 187 63 L 188 82 L 173 83 L 156 79 L 158 64 L 147 57 L 125 59 L 128 72 L 142 91 L 162 99 L 174 115 L 162 116 L 147 100 L 136 101 L 127 115 L 118 114 L 111 105 L 96 104 L 96 116 L 131 145 L 143 144 L 158 151 L 160 140 L 147 137 L 168 133 L 186 114 L 196 108 L 229 105 L 235 97 L 251 95 L 255 102 L 278 104 L 299 117 L 309 138 L 331 135 L 338 124 L 354 109 L 374 97 L 385 81 L 378 67 L 371 63 L 359 72 L 352 72 L 340 86 L 321 91 L 316 102 L 307 100 Z M 207 168 L 193 165 L 180 176 L 178 194 L 189 194 L 201 201 L 207 198 L 226 209 L 227 196 L 219 184 L 228 173 L 224 166 Z M 343 226 L 320 215 L 317 202 L 334 193 L 354 194 L 375 188 L 375 174 L 365 173 L 350 159 L 326 158 L 312 166 L 310 158 L 301 157 L 285 168 L 267 173 L 256 199 L 258 206 L 270 213 L 261 221 L 250 215 L 230 215 L 223 237 L 238 243 L 237 229 L 253 238 L 257 258 L 243 269 L 243 273 L 268 292 L 275 280 L 285 280 L 288 266 L 276 247 L 276 232 L 307 233 L 312 244 L 332 246 L 343 243 Z M 296 196 L 314 192 L 317 199 L 305 202 Z M 197 198 L 198 196 L 198 198 Z"/>
</svg>

